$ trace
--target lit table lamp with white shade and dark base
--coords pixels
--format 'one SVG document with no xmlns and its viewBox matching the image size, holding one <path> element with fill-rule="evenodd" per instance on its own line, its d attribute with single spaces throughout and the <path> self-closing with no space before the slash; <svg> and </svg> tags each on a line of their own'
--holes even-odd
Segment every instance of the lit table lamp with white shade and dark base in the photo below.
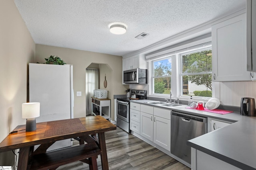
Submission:
<svg viewBox="0 0 256 170">
<path fill-rule="evenodd" d="M 40 103 L 22 104 L 22 118 L 26 120 L 26 132 L 36 130 L 36 117 L 40 116 Z"/>
</svg>

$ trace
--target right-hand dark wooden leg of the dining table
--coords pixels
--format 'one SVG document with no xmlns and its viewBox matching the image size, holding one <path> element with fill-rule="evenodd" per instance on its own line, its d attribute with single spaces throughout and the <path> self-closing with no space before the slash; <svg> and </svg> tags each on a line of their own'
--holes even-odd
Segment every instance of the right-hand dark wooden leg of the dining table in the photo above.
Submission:
<svg viewBox="0 0 256 170">
<path fill-rule="evenodd" d="M 102 170 L 108 170 L 108 156 L 107 156 L 104 132 L 98 133 L 98 137 L 99 137 L 100 149 L 102 151 L 102 154 L 100 155 Z"/>
</svg>

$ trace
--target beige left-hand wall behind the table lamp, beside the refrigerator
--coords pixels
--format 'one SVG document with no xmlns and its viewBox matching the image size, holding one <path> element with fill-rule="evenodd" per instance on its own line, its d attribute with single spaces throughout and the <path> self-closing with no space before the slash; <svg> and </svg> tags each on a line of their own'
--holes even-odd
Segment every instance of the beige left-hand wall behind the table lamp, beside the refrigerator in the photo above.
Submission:
<svg viewBox="0 0 256 170">
<path fill-rule="evenodd" d="M 27 101 L 28 63 L 34 62 L 35 43 L 13 0 L 0 0 L 0 142 L 26 123 L 21 105 Z M 0 166 L 12 166 L 14 154 L 0 153 Z"/>
</svg>

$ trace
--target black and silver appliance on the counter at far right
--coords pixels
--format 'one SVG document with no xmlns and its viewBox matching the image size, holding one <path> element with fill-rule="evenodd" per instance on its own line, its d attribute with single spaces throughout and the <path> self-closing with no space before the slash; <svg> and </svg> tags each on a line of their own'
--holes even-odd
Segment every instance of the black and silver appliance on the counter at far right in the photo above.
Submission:
<svg viewBox="0 0 256 170">
<path fill-rule="evenodd" d="M 254 98 L 242 98 L 240 114 L 244 116 L 256 116 Z"/>
</svg>

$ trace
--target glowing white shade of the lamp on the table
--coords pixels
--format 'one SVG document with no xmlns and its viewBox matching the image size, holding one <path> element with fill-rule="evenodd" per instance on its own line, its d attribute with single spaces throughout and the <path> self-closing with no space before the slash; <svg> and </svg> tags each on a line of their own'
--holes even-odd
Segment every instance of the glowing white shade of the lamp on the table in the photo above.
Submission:
<svg viewBox="0 0 256 170">
<path fill-rule="evenodd" d="M 40 103 L 31 102 L 22 104 L 22 118 L 30 119 L 40 116 Z"/>
</svg>

